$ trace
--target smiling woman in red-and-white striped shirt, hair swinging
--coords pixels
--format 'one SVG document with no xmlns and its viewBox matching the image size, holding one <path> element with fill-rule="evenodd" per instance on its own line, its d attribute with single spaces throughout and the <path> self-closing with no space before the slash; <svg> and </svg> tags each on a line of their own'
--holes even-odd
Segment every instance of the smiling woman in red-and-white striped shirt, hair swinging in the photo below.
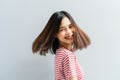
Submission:
<svg viewBox="0 0 120 80">
<path fill-rule="evenodd" d="M 55 54 L 55 80 L 84 80 L 83 71 L 74 52 L 90 44 L 87 34 L 81 30 L 66 11 L 52 14 L 44 30 L 35 39 L 32 51 L 46 55 Z"/>
</svg>

